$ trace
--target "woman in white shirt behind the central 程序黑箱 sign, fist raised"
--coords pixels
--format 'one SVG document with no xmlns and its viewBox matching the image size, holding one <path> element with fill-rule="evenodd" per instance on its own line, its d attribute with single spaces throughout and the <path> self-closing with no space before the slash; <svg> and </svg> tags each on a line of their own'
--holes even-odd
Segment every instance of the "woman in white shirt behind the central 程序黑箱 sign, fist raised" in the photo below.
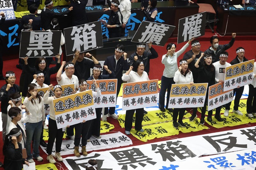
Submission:
<svg viewBox="0 0 256 170">
<path fill-rule="evenodd" d="M 148 81 L 148 73 L 144 71 L 144 63 L 141 60 L 137 60 L 134 63 L 134 67 L 130 67 L 130 69 L 122 76 L 123 81 L 127 81 L 127 83 L 139 82 L 139 81 Z M 130 135 L 130 131 L 132 129 L 132 117 L 136 110 L 135 114 L 135 130 L 144 132 L 142 129 L 142 120 L 144 115 L 144 108 L 126 110 L 125 114 L 125 134 Z"/>
</svg>

